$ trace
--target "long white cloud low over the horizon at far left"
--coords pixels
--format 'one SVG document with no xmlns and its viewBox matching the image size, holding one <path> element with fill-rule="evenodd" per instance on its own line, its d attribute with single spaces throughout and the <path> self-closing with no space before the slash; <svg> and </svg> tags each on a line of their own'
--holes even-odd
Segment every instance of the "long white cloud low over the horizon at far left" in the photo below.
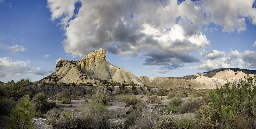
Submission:
<svg viewBox="0 0 256 129">
<path fill-rule="evenodd" d="M 36 75 L 43 76 L 47 73 L 52 73 L 52 70 L 36 71 L 30 66 L 29 61 L 12 61 L 9 57 L 0 58 L 0 77 L 11 75 Z"/>
</svg>

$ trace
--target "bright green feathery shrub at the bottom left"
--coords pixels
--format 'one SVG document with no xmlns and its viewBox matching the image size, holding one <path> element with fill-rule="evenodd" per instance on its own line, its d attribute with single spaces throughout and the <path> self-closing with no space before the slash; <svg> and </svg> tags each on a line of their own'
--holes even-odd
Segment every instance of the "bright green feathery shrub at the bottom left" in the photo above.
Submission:
<svg viewBox="0 0 256 129">
<path fill-rule="evenodd" d="M 31 101 L 28 99 L 20 102 L 12 109 L 10 118 L 8 119 L 7 129 L 18 128 L 34 128 L 32 117 L 37 116 L 36 110 L 31 106 Z"/>
</svg>

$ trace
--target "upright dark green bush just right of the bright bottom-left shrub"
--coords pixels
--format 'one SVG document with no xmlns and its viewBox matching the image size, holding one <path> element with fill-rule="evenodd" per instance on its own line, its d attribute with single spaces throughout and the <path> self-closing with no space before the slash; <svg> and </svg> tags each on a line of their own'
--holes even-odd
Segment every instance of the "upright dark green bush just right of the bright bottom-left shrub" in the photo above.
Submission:
<svg viewBox="0 0 256 129">
<path fill-rule="evenodd" d="M 34 101 L 36 102 L 36 111 L 38 113 L 44 113 L 49 105 L 44 92 L 36 93 Z"/>
</svg>

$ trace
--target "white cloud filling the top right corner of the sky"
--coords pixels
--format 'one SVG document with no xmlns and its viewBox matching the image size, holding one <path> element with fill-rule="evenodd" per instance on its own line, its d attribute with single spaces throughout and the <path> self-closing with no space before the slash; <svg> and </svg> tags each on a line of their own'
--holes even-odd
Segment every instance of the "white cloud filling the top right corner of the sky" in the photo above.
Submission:
<svg viewBox="0 0 256 129">
<path fill-rule="evenodd" d="M 223 26 L 223 32 L 241 32 L 246 30 L 245 18 L 256 25 L 253 3 L 253 0 L 205 0 L 201 7 L 212 23 Z"/>
</svg>

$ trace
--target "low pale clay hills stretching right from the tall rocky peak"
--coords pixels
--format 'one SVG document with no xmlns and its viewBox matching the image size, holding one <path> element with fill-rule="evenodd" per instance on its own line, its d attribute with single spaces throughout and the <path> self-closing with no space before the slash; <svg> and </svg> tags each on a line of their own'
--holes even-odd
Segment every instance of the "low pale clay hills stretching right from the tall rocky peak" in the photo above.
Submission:
<svg viewBox="0 0 256 129">
<path fill-rule="evenodd" d="M 213 77 L 205 77 L 202 73 L 198 73 L 196 79 L 184 80 L 177 78 L 167 78 L 167 77 L 155 77 L 152 81 L 148 81 L 146 76 L 140 76 L 144 84 L 149 87 L 161 88 L 163 90 L 170 90 L 171 88 L 182 87 L 182 88 L 194 88 L 194 89 L 215 89 L 216 86 L 220 87 L 225 84 L 225 82 L 237 82 L 240 78 L 247 76 L 244 72 L 238 71 L 234 72 L 230 69 L 220 71 Z M 254 77 L 254 74 L 249 74 L 249 76 Z"/>
</svg>

